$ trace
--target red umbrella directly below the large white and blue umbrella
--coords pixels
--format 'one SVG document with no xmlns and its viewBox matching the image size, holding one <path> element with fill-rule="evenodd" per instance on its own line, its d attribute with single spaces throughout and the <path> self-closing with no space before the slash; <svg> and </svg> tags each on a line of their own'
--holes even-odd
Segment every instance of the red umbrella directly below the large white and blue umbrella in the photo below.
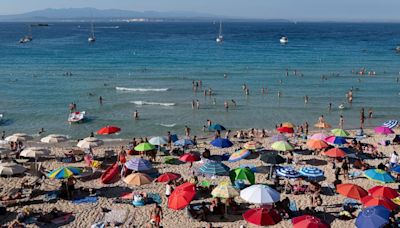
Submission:
<svg viewBox="0 0 400 228">
<path fill-rule="evenodd" d="M 247 222 L 258 226 L 275 225 L 282 220 L 275 210 L 262 207 L 246 211 L 243 214 L 243 218 Z"/>
</svg>

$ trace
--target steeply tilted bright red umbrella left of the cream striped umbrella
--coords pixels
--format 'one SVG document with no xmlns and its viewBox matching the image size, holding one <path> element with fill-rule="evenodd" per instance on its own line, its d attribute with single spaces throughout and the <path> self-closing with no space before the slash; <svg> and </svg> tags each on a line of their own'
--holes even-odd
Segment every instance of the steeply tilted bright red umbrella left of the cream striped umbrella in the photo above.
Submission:
<svg viewBox="0 0 400 228">
<path fill-rule="evenodd" d="M 168 207 L 174 210 L 185 208 L 196 195 L 196 186 L 186 182 L 175 188 L 168 198 Z"/>
</svg>

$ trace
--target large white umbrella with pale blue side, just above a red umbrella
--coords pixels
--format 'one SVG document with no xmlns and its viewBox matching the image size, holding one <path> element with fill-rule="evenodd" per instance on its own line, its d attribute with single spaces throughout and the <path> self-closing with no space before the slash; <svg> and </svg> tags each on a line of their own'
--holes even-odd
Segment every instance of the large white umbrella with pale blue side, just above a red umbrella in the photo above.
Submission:
<svg viewBox="0 0 400 228">
<path fill-rule="evenodd" d="M 255 184 L 240 191 L 240 197 L 255 204 L 273 204 L 280 200 L 280 193 L 262 184 Z"/>
</svg>

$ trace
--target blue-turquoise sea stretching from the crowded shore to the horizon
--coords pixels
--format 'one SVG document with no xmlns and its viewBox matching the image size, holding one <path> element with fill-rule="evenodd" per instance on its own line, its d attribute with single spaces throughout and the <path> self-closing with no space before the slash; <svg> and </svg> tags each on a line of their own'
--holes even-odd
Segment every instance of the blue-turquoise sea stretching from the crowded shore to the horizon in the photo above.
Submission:
<svg viewBox="0 0 400 228">
<path fill-rule="evenodd" d="M 0 23 L 0 130 L 35 134 L 44 128 L 78 138 L 117 125 L 122 131 L 114 137 L 129 138 L 183 134 L 185 125 L 200 133 L 207 119 L 230 129 L 272 128 L 284 121 L 311 125 L 324 115 L 337 126 L 341 114 L 345 127 L 355 128 L 362 107 L 373 110 L 370 127 L 399 119 L 394 48 L 400 24 L 231 22 L 223 24 L 222 44 L 215 42 L 218 28 L 212 22 L 96 23 L 97 40 L 89 44 L 90 24 L 50 23 L 33 27 L 33 41 L 19 44 L 27 24 Z M 279 43 L 282 35 L 287 45 Z M 362 67 L 376 76 L 352 72 Z M 215 96 L 194 93 L 193 80 Z M 345 94 L 351 88 L 350 107 Z M 237 106 L 226 111 L 223 103 L 232 99 Z M 192 100 L 199 100 L 199 110 Z M 86 111 L 85 123 L 68 124 L 71 102 Z M 345 110 L 337 108 L 341 103 Z M 135 110 L 139 120 L 132 118 Z"/>
</svg>

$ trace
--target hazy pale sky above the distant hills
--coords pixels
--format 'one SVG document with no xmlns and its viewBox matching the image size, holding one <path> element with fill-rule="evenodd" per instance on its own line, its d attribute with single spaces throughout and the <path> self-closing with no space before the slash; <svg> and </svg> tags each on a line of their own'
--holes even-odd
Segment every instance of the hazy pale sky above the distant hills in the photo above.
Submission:
<svg viewBox="0 0 400 228">
<path fill-rule="evenodd" d="M 291 20 L 400 21 L 400 0 L 0 0 L 0 14 L 95 7 L 194 11 L 229 17 Z"/>
</svg>

